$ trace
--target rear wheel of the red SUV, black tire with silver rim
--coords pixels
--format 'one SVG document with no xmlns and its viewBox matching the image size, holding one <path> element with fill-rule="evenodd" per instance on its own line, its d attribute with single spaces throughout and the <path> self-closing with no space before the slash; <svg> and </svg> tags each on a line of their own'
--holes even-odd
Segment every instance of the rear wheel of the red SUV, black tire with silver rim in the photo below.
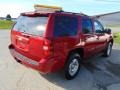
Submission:
<svg viewBox="0 0 120 90">
<path fill-rule="evenodd" d="M 76 77 L 81 67 L 80 61 L 81 61 L 81 57 L 77 53 L 73 53 L 68 57 L 68 61 L 65 66 L 65 72 L 64 72 L 65 78 L 67 80 L 71 80 Z"/>
</svg>

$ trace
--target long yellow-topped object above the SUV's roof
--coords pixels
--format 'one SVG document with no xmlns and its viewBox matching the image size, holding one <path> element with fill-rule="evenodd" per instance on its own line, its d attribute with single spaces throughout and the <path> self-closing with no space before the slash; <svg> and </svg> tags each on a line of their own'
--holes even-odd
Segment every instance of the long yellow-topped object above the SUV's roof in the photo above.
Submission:
<svg viewBox="0 0 120 90">
<path fill-rule="evenodd" d="M 55 12 L 55 11 L 62 11 L 62 7 L 57 6 L 46 6 L 46 5 L 34 5 L 36 12 Z"/>
</svg>

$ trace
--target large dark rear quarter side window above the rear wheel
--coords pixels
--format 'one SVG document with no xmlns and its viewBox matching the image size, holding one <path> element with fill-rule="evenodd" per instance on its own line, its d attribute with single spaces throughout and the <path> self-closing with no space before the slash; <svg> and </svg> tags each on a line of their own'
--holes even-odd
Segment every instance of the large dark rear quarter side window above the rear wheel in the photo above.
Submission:
<svg viewBox="0 0 120 90">
<path fill-rule="evenodd" d="M 78 29 L 77 17 L 56 16 L 54 23 L 54 36 L 75 36 Z"/>
</svg>

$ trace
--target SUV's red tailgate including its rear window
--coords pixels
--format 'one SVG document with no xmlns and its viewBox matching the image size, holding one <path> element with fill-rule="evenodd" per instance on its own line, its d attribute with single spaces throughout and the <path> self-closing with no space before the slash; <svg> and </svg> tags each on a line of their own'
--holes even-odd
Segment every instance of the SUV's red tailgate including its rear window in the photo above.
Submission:
<svg viewBox="0 0 120 90">
<path fill-rule="evenodd" d="M 39 60 L 43 55 L 48 16 L 20 16 L 12 30 L 12 44 L 21 54 Z"/>
</svg>

